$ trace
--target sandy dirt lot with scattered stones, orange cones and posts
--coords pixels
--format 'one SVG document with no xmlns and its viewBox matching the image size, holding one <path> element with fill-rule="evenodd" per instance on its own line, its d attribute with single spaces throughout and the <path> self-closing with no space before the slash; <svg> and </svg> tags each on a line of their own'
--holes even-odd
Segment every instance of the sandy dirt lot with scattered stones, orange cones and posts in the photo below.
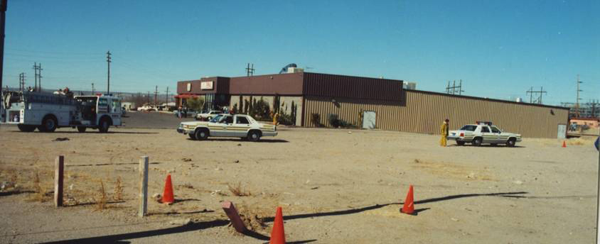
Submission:
<svg viewBox="0 0 600 244">
<path fill-rule="evenodd" d="M 281 128 L 277 137 L 251 143 L 189 140 L 175 127 L 102 134 L 2 126 L 0 243 L 265 243 L 277 206 L 292 243 L 595 238 L 598 154 L 591 138 L 569 139 L 567 148 L 562 140 L 531 138 L 516 148 L 441 148 L 437 135 Z M 65 155 L 67 206 L 55 209 L 58 155 Z M 143 155 L 151 162 L 149 194 L 162 194 L 170 173 L 177 202 L 150 199 L 149 216 L 138 218 Z M 399 213 L 410 184 L 417 216 Z M 255 233 L 235 233 L 222 201 L 233 201 Z"/>
</svg>

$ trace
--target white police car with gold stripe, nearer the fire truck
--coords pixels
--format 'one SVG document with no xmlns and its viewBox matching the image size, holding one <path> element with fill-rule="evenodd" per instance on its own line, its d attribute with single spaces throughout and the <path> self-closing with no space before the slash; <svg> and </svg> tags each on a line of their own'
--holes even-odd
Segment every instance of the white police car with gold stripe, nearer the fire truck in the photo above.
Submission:
<svg viewBox="0 0 600 244">
<path fill-rule="evenodd" d="M 259 123 L 245 114 L 222 113 L 210 121 L 182 122 L 177 132 L 189 135 L 192 140 L 205 140 L 209 136 L 215 136 L 259 141 L 263 136 L 277 135 L 277 126 Z"/>
</svg>

